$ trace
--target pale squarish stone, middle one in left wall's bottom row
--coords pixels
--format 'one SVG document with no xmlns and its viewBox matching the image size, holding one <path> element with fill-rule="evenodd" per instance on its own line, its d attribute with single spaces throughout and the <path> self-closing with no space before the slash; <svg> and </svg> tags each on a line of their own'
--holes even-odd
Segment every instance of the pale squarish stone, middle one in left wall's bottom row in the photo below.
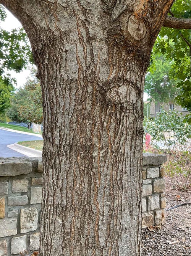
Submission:
<svg viewBox="0 0 191 256">
<path fill-rule="evenodd" d="M 26 236 L 16 236 L 11 239 L 11 254 L 24 252 L 26 247 Z"/>
</svg>

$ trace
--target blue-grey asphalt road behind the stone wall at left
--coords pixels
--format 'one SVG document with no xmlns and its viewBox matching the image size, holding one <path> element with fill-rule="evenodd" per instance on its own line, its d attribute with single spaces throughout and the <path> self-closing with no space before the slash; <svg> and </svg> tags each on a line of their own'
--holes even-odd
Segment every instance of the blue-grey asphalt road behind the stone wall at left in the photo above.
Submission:
<svg viewBox="0 0 191 256">
<path fill-rule="evenodd" d="M 9 149 L 7 145 L 14 144 L 18 141 L 42 140 L 42 138 L 32 135 L 26 135 L 16 132 L 8 132 L 0 129 L 0 157 L 26 157 L 15 150 Z"/>
</svg>

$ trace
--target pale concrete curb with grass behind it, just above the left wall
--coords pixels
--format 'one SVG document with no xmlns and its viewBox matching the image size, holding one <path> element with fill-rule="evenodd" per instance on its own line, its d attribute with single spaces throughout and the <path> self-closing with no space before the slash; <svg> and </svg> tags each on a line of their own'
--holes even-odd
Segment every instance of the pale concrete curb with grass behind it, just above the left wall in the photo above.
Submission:
<svg viewBox="0 0 191 256">
<path fill-rule="evenodd" d="M 7 145 L 7 147 L 28 157 L 42 157 L 42 151 L 31 149 L 30 147 L 25 147 L 18 143 Z"/>
</svg>

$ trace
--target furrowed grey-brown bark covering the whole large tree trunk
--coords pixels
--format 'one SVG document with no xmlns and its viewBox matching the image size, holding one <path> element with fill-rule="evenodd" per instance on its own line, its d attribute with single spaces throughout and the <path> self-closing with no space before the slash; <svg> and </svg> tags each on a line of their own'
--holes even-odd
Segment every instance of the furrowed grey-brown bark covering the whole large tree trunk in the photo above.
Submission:
<svg viewBox="0 0 191 256">
<path fill-rule="evenodd" d="M 139 256 L 143 87 L 173 1 L 1 1 L 44 108 L 40 256 Z"/>
</svg>

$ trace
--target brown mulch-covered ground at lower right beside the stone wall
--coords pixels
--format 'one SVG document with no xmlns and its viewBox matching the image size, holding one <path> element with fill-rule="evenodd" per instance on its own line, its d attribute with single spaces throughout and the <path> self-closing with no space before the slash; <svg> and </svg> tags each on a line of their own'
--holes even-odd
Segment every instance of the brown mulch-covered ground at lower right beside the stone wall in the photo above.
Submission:
<svg viewBox="0 0 191 256">
<path fill-rule="evenodd" d="M 169 209 L 182 203 L 191 203 L 191 190 L 181 191 L 174 180 L 165 177 L 166 200 Z M 191 256 L 191 205 L 166 211 L 162 228 L 142 231 L 142 256 Z"/>
</svg>

